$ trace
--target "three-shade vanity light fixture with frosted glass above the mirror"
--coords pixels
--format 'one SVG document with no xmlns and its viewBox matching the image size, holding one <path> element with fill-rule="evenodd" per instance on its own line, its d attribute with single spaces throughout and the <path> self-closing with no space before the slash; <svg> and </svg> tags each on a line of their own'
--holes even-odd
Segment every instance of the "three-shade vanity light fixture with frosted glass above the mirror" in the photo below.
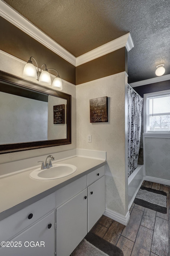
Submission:
<svg viewBox="0 0 170 256">
<path fill-rule="evenodd" d="M 23 71 L 23 77 L 24 78 L 29 79 L 29 80 L 38 80 L 42 85 L 49 86 L 49 85 L 51 85 L 51 78 L 50 78 L 50 74 L 48 73 L 48 70 L 54 70 L 54 71 L 57 72 L 57 75 L 53 80 L 52 88 L 56 89 L 56 90 L 62 90 L 63 89 L 62 81 L 61 81 L 60 76 L 58 75 L 57 70 L 47 69 L 46 65 L 43 64 L 41 66 L 41 71 L 39 71 L 39 68 L 38 68 L 38 65 L 37 65 L 37 62 L 36 62 L 37 70 L 38 70 L 38 71 L 36 71 L 35 66 L 33 65 L 33 62 L 32 62 L 31 59 L 33 59 L 36 62 L 35 58 L 33 58 L 31 56 L 30 59 L 27 61 L 27 64 L 24 67 L 24 71 Z M 45 68 L 42 71 L 42 67 L 44 65 L 45 65 Z"/>
</svg>

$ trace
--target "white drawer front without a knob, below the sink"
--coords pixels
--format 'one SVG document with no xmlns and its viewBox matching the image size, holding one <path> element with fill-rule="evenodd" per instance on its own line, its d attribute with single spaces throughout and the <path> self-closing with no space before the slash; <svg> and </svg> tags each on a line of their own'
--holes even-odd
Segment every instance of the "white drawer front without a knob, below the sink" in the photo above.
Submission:
<svg viewBox="0 0 170 256">
<path fill-rule="evenodd" d="M 56 208 L 87 187 L 87 175 L 56 191 Z"/>
</svg>

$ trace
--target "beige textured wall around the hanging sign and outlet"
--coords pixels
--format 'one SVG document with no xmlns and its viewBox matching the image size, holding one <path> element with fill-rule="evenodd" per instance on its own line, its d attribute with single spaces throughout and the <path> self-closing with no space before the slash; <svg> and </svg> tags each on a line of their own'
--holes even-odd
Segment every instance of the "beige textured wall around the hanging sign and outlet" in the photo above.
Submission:
<svg viewBox="0 0 170 256">
<path fill-rule="evenodd" d="M 125 72 L 76 86 L 77 148 L 107 151 L 106 208 L 124 216 L 128 212 L 125 94 Z M 108 96 L 108 123 L 90 123 L 89 100 L 103 96 Z M 87 135 L 92 135 L 91 143 Z"/>
</svg>

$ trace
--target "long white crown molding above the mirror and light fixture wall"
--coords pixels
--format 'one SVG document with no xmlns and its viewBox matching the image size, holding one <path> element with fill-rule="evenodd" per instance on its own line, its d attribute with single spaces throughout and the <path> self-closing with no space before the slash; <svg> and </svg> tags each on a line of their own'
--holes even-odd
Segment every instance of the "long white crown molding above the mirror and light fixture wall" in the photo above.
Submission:
<svg viewBox="0 0 170 256">
<path fill-rule="evenodd" d="M 60 57 L 70 62 L 74 66 L 76 65 L 76 57 L 64 49 L 61 45 L 56 43 L 53 39 L 48 37 L 40 29 L 34 26 L 31 22 L 25 19 L 17 11 L 7 5 L 5 2 L 0 1 L 0 15 L 11 22 L 13 25 L 36 39 L 38 42 L 45 45 L 47 48 L 58 54 Z"/>
</svg>

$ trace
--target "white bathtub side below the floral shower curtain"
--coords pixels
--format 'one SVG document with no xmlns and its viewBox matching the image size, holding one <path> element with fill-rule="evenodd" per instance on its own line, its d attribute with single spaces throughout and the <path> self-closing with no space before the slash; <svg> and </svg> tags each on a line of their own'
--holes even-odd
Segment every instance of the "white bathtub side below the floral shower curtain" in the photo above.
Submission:
<svg viewBox="0 0 170 256">
<path fill-rule="evenodd" d="M 138 165 L 133 173 L 128 177 L 128 210 L 130 209 L 142 182 L 143 165 Z"/>
</svg>

